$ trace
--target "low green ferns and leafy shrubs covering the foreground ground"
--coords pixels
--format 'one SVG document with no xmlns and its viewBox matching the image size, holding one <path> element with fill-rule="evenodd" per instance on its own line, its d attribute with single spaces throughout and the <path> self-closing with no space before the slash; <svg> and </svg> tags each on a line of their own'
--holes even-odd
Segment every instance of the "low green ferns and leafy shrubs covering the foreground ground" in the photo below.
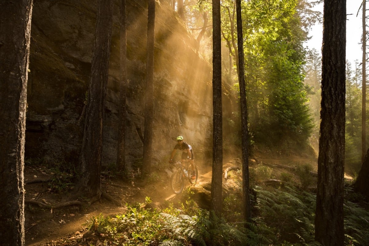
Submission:
<svg viewBox="0 0 369 246">
<path fill-rule="evenodd" d="M 346 189 L 346 194 L 351 193 Z M 314 194 L 295 187 L 254 187 L 252 222 L 241 217 L 239 197 L 224 200 L 224 218 L 198 207 L 190 190 L 186 202 L 164 209 L 147 209 L 151 203 L 127 205 L 124 214 L 94 217 L 87 224 L 94 236 L 89 245 L 125 246 L 314 246 Z M 369 212 L 345 201 L 345 245 L 368 245 Z M 83 238 L 69 242 L 80 245 Z M 65 242 L 64 242 L 65 243 Z"/>
</svg>

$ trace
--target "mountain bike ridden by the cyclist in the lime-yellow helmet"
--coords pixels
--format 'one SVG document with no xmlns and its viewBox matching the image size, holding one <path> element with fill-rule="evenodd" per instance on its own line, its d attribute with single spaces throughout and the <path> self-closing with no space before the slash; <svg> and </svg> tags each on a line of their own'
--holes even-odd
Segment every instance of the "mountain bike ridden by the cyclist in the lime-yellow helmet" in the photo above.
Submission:
<svg viewBox="0 0 369 246">
<path fill-rule="evenodd" d="M 186 160 L 184 162 L 172 162 L 171 164 L 177 169 L 170 178 L 170 187 L 175 194 L 180 194 L 183 191 L 185 179 L 188 179 L 191 184 L 196 183 L 197 178 L 199 177 L 199 171 L 197 170 L 196 164 L 194 164 L 196 170 L 196 177 L 194 179 L 192 177 L 192 168 L 189 170 L 190 160 Z"/>
</svg>

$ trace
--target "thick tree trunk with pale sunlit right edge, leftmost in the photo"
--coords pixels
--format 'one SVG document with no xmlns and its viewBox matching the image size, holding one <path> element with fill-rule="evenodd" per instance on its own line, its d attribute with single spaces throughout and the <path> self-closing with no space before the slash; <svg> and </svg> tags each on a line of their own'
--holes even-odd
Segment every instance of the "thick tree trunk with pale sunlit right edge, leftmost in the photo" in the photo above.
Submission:
<svg viewBox="0 0 369 246">
<path fill-rule="evenodd" d="M 32 0 L 0 1 L 0 238 L 24 245 L 24 141 Z"/>
</svg>

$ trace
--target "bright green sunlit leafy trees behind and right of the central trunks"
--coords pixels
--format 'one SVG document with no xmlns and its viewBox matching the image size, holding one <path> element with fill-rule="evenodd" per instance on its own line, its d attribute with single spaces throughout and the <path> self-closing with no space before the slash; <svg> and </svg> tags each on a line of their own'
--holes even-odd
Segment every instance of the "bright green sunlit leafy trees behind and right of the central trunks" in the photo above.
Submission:
<svg viewBox="0 0 369 246">
<path fill-rule="evenodd" d="M 250 135 L 256 144 L 283 153 L 307 148 L 314 124 L 307 105 L 309 88 L 303 84 L 303 42 L 311 20 L 303 13 L 310 11 L 305 10 L 311 5 L 298 0 L 252 0 L 242 4 L 242 19 L 247 20 L 243 34 L 247 37 L 244 60 Z M 237 62 L 234 2 L 222 1 L 221 11 L 223 38 Z"/>
</svg>

